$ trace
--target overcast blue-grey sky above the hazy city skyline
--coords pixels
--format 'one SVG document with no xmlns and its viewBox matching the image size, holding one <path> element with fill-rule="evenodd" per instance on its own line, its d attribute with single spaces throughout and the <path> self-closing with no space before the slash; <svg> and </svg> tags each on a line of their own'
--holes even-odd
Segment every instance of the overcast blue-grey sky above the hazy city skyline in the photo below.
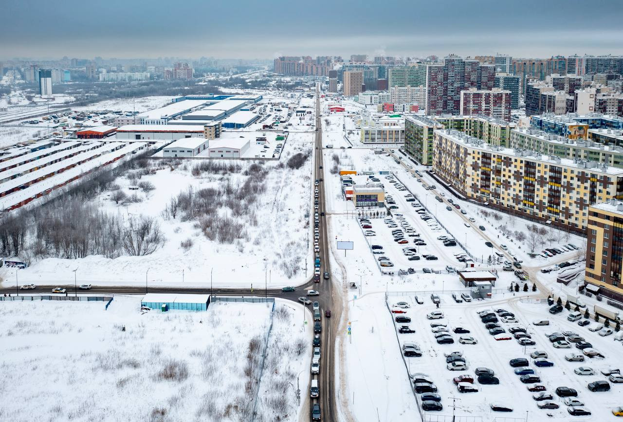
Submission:
<svg viewBox="0 0 623 422">
<path fill-rule="evenodd" d="M 623 0 L 2 0 L 0 58 L 623 54 Z"/>
</svg>

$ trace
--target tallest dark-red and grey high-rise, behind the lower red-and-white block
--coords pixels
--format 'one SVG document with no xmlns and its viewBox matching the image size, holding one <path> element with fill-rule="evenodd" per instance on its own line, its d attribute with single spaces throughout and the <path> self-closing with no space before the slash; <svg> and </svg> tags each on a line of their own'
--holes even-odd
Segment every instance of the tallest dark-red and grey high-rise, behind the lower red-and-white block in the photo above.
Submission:
<svg viewBox="0 0 623 422">
<path fill-rule="evenodd" d="M 495 86 L 495 66 L 480 64 L 477 60 L 449 55 L 443 63 L 421 67 L 425 68 L 427 115 L 458 115 L 461 91 L 490 90 Z"/>
</svg>

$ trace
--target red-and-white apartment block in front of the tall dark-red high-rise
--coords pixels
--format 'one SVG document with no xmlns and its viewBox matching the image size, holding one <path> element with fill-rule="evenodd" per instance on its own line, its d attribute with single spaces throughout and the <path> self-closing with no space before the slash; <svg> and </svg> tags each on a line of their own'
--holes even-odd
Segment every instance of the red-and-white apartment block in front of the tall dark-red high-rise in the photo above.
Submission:
<svg viewBox="0 0 623 422">
<path fill-rule="evenodd" d="M 461 91 L 460 114 L 464 116 L 483 115 L 510 121 L 510 91 L 500 88 Z"/>
</svg>

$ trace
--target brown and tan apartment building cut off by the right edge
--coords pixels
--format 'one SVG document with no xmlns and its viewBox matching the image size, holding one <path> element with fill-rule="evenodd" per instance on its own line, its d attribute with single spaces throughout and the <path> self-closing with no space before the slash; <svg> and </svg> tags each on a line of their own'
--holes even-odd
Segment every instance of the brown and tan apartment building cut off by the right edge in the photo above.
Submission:
<svg viewBox="0 0 623 422">
<path fill-rule="evenodd" d="M 589 207 L 586 285 L 593 293 L 623 301 L 623 202 L 610 199 Z"/>
</svg>

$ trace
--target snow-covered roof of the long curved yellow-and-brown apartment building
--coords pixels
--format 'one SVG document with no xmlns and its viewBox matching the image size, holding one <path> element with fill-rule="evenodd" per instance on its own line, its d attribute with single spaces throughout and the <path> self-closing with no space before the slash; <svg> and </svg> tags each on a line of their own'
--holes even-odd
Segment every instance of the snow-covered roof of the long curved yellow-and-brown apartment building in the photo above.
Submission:
<svg viewBox="0 0 623 422">
<path fill-rule="evenodd" d="M 454 129 L 438 129 L 435 133 L 439 133 L 445 138 L 452 139 L 457 144 L 461 144 L 468 148 L 478 149 L 490 154 L 502 154 L 517 158 L 528 158 L 535 161 L 540 161 L 545 164 L 554 164 L 558 166 L 574 167 L 581 171 L 589 171 L 595 173 L 608 174 L 609 176 L 621 176 L 623 177 L 623 169 L 618 167 L 608 166 L 607 164 L 587 161 L 583 159 L 569 159 L 556 156 L 549 156 L 537 151 L 530 151 L 528 149 L 518 148 L 503 148 L 502 146 L 488 144 L 478 138 L 473 138 L 464 132 L 460 132 Z"/>
</svg>

